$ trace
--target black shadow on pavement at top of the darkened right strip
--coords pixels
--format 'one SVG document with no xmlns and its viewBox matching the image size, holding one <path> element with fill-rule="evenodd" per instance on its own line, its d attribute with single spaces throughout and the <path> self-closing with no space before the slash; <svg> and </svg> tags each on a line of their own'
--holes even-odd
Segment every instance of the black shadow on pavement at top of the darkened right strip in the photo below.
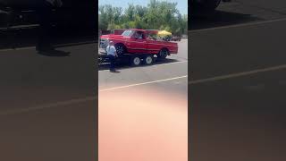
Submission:
<svg viewBox="0 0 286 161">
<path fill-rule="evenodd" d="M 251 14 L 229 13 L 217 10 L 212 13 L 196 13 L 189 21 L 189 30 L 202 30 L 262 20 Z"/>
</svg>

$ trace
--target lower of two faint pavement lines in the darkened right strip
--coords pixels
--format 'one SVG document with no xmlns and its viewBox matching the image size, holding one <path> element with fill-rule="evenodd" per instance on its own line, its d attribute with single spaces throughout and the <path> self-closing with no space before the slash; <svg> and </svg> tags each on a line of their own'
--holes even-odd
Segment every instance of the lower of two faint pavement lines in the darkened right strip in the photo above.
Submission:
<svg viewBox="0 0 286 161">
<path fill-rule="evenodd" d="M 238 72 L 238 73 L 216 76 L 216 77 L 202 79 L 202 80 L 192 80 L 192 81 L 189 81 L 189 84 L 191 85 L 191 84 L 199 84 L 199 83 L 211 82 L 211 81 L 216 81 L 216 80 L 226 80 L 226 79 L 231 79 L 231 78 L 236 78 L 236 77 L 247 76 L 247 75 L 251 75 L 251 74 L 255 74 L 259 72 L 271 72 L 271 71 L 277 71 L 277 70 L 282 70 L 282 69 L 286 69 L 286 64 L 264 68 L 264 69 L 253 70 L 249 72 Z"/>
</svg>

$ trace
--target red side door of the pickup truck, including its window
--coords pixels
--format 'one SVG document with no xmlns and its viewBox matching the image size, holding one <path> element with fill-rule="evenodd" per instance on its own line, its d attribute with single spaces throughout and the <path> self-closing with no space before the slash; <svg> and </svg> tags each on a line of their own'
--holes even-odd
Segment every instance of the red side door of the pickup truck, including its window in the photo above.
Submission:
<svg viewBox="0 0 286 161">
<path fill-rule="evenodd" d="M 132 37 L 132 47 L 133 52 L 136 53 L 147 53 L 147 38 L 143 31 L 135 31 Z"/>
</svg>

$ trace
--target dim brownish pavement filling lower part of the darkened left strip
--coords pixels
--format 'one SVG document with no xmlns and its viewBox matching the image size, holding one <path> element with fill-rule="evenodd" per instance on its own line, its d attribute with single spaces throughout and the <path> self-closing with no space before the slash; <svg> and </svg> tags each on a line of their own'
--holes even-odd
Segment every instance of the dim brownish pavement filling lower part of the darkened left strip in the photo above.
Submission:
<svg viewBox="0 0 286 161">
<path fill-rule="evenodd" d="M 96 45 L 0 50 L 0 160 L 97 158 Z"/>
</svg>

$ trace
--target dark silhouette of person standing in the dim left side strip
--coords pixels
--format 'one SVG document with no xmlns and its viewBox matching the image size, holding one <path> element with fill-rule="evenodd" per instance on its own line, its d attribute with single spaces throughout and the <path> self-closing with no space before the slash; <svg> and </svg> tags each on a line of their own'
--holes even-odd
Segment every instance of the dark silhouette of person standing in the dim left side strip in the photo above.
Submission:
<svg viewBox="0 0 286 161">
<path fill-rule="evenodd" d="M 53 26 L 53 9 L 61 7 L 62 0 L 42 0 L 42 3 L 37 8 L 39 19 L 39 34 L 36 50 L 38 52 L 50 52 L 55 50 L 52 47 L 51 35 Z"/>
</svg>

